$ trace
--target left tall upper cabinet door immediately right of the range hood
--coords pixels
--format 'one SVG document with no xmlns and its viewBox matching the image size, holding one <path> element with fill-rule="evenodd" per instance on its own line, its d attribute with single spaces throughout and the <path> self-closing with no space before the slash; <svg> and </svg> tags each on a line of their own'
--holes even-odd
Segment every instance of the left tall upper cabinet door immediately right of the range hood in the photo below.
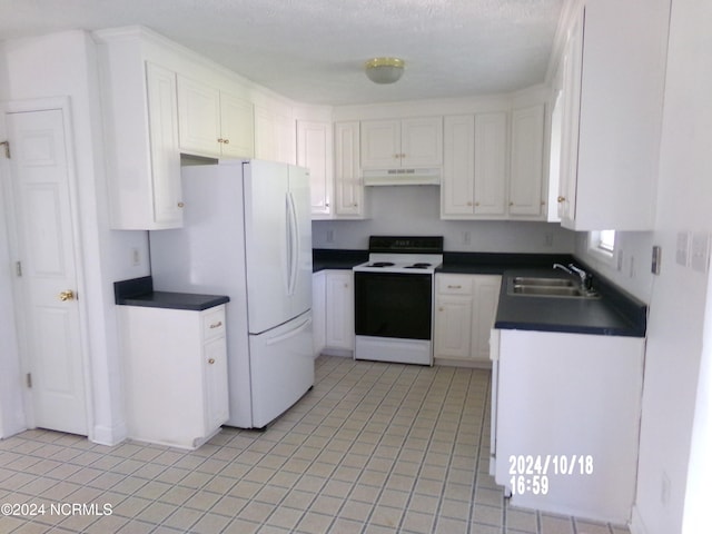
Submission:
<svg viewBox="0 0 712 534">
<path fill-rule="evenodd" d="M 473 215 L 475 205 L 475 118 L 445 117 L 441 216 Z"/>
</svg>

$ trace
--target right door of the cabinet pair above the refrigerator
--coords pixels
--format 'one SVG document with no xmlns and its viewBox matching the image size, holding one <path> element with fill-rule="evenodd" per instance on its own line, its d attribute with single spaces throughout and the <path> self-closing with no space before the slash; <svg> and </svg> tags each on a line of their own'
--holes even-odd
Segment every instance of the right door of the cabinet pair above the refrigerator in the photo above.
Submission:
<svg viewBox="0 0 712 534">
<path fill-rule="evenodd" d="M 251 102 L 220 92 L 220 134 L 224 157 L 254 157 L 255 112 Z"/>
</svg>

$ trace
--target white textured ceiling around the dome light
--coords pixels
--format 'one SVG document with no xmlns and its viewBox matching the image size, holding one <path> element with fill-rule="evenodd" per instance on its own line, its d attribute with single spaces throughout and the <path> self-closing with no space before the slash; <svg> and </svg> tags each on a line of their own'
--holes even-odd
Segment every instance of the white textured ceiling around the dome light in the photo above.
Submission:
<svg viewBox="0 0 712 534">
<path fill-rule="evenodd" d="M 142 24 L 294 100 L 348 105 L 544 81 L 564 0 L 0 0 L 0 40 Z M 392 86 L 363 63 L 395 56 Z"/>
</svg>

